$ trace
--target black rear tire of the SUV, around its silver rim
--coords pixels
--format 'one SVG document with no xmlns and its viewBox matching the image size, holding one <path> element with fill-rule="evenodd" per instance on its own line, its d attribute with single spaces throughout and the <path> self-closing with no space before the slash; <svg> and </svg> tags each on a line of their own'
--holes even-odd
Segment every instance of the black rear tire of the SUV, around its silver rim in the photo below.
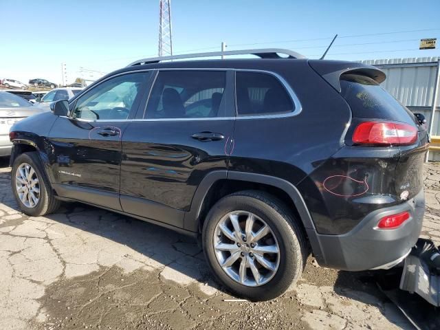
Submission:
<svg viewBox="0 0 440 330">
<path fill-rule="evenodd" d="M 264 285 L 249 287 L 234 281 L 217 261 L 213 243 L 215 228 L 226 214 L 236 210 L 252 212 L 263 219 L 278 241 L 278 270 Z M 236 296 L 252 301 L 270 300 L 283 294 L 301 276 L 307 259 L 305 234 L 298 220 L 282 201 L 258 190 L 236 192 L 215 203 L 203 223 L 202 244 L 210 270 L 217 280 Z"/>
</svg>

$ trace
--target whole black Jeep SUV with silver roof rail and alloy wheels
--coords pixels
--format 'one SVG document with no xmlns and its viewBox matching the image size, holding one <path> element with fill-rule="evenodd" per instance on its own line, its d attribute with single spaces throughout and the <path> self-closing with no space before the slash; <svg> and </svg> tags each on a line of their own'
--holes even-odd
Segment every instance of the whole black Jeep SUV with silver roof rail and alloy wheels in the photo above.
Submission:
<svg viewBox="0 0 440 330">
<path fill-rule="evenodd" d="M 384 73 L 222 54 L 245 53 L 259 58 L 137 61 L 15 124 L 23 212 L 82 201 L 201 235 L 212 273 L 252 300 L 282 294 L 310 250 L 340 270 L 402 261 L 421 230 L 428 139 Z"/>
</svg>

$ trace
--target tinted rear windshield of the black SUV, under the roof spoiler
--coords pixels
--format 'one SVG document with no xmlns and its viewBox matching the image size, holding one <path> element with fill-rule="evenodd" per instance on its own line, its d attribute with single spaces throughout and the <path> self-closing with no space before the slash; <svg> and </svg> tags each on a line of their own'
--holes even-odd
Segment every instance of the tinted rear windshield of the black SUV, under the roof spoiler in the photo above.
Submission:
<svg viewBox="0 0 440 330">
<path fill-rule="evenodd" d="M 415 123 L 415 116 L 373 79 L 359 74 L 341 76 L 341 95 L 356 118 Z"/>
</svg>

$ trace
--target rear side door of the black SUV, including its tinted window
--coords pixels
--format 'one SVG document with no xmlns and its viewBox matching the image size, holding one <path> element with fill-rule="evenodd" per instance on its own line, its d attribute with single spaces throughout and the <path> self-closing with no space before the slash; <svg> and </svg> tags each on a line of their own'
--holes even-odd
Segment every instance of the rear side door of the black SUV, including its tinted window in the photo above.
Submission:
<svg viewBox="0 0 440 330">
<path fill-rule="evenodd" d="M 159 70 L 146 107 L 122 136 L 125 212 L 184 227 L 203 177 L 226 170 L 234 127 L 233 72 Z"/>
</svg>

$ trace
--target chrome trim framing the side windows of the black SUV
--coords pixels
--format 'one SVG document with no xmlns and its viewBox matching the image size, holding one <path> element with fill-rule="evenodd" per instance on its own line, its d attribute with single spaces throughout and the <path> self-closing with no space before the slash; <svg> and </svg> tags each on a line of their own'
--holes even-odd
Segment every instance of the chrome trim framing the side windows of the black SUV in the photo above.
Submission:
<svg viewBox="0 0 440 330">
<path fill-rule="evenodd" d="M 131 70 L 127 72 L 121 72 L 119 74 L 115 74 L 113 76 L 110 76 L 102 81 L 100 83 L 96 84 L 95 86 L 91 87 L 91 89 L 94 89 L 96 86 L 99 86 L 100 84 L 104 83 L 105 81 L 117 77 L 122 76 L 124 74 L 133 74 L 137 72 L 152 72 L 152 74 L 155 74 L 153 84 L 151 85 L 151 89 L 148 91 L 148 98 L 145 103 L 144 107 L 144 115 L 146 113 L 146 107 L 148 106 L 148 102 L 151 96 L 151 91 L 153 91 L 154 84 L 156 82 L 157 76 L 159 75 L 159 71 L 224 71 L 228 72 L 230 70 L 234 72 L 256 72 L 256 73 L 263 73 L 263 74 L 270 74 L 274 76 L 278 81 L 283 85 L 283 87 L 286 89 L 287 94 L 289 94 L 289 97 L 291 98 L 292 102 L 294 102 L 295 109 L 292 112 L 289 113 L 274 113 L 274 114 L 267 114 L 267 115 L 236 115 L 235 117 L 198 117 L 198 118 L 133 118 L 133 119 L 118 119 L 118 120 L 105 120 L 105 119 L 98 119 L 98 120 L 88 120 L 83 118 L 72 118 L 70 116 L 61 116 L 63 118 L 68 118 L 71 120 L 78 120 L 81 122 L 185 122 L 185 121 L 201 121 L 201 120 L 251 120 L 251 119 L 276 119 L 276 118 L 288 118 L 288 117 L 294 117 L 296 115 L 299 115 L 303 111 L 303 107 L 300 103 L 300 100 L 298 99 L 298 96 L 296 96 L 294 90 L 292 87 L 290 87 L 289 83 L 281 76 L 280 74 L 277 74 L 276 72 L 268 71 L 268 70 L 259 70 L 259 69 L 232 69 L 232 68 L 209 68 L 209 67 L 196 67 L 196 68 L 177 68 L 177 67 L 167 67 L 167 68 L 155 68 L 155 69 L 140 69 L 140 70 Z M 91 90 L 87 89 L 87 91 Z M 77 100 L 80 96 L 82 96 L 83 93 L 78 94 L 78 97 L 75 98 Z M 236 98 L 236 94 L 234 94 Z M 236 100 L 235 100 L 236 105 Z M 236 109 L 235 112 L 237 113 Z"/>
</svg>

